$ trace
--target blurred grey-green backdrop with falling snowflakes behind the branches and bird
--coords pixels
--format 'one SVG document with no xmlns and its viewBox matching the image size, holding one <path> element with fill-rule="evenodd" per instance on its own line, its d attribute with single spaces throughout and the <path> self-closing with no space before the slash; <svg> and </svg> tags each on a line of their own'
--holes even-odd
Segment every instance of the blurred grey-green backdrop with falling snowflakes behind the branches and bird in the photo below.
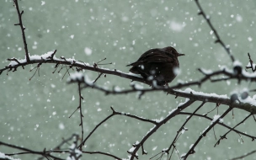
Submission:
<svg viewBox="0 0 256 160">
<path fill-rule="evenodd" d="M 247 53 L 251 53 L 256 61 L 255 15 L 256 1 L 200 1 L 205 13 L 211 16 L 211 22 L 216 27 L 221 39 L 231 47 L 232 54 L 243 66 L 248 64 Z M 180 57 L 180 74 L 172 84 L 179 81 L 189 82 L 202 77 L 197 68 L 217 70 L 221 66 L 232 67 L 230 58 L 221 45 L 215 45 L 214 35 L 202 17 L 198 16 L 198 8 L 193 0 L 182 1 L 117 1 L 117 0 L 51 0 L 51 1 L 19 1 L 19 7 L 24 10 L 23 22 L 30 55 L 41 55 L 47 51 L 57 50 L 56 56 L 65 56 L 85 61 L 93 65 L 106 57 L 104 62 L 113 62 L 104 67 L 128 72 L 125 67 L 136 61 L 144 51 L 150 48 L 161 48 L 173 45 L 177 51 L 186 54 Z M 13 2 L 0 2 L 0 67 L 8 65 L 7 58 L 24 58 L 24 46 L 18 23 L 18 16 Z M 76 84 L 67 84 L 65 70 L 54 71 L 54 65 L 44 64 L 40 67 L 40 77 L 35 71 L 29 72 L 35 65 L 27 66 L 17 72 L 3 72 L 0 76 L 0 141 L 43 151 L 51 149 L 72 133 L 81 133 L 79 113 L 68 118 L 78 106 Z M 97 72 L 85 71 L 90 79 L 98 76 Z M 107 75 L 101 77 L 97 84 L 112 88 L 130 88 L 130 80 Z M 229 95 L 234 90 L 248 88 L 249 83 L 237 85 L 237 81 L 221 83 L 205 83 L 201 88 L 193 87 L 205 93 Z M 143 85 L 149 88 L 147 85 Z M 253 88 L 253 84 L 250 85 Z M 251 93 L 252 94 L 252 93 Z M 251 95 L 253 96 L 253 95 Z M 93 89 L 83 90 L 83 125 L 85 136 L 101 120 L 110 115 L 113 106 L 117 111 L 131 113 L 147 119 L 161 119 L 168 112 L 184 102 L 184 99 L 174 99 L 165 93 L 147 93 L 141 100 L 136 99 L 136 93 L 127 95 L 105 96 Z M 200 103 L 195 103 L 186 109 L 192 112 Z M 216 104 L 206 104 L 199 113 L 206 113 Z M 220 106 L 219 112 L 227 109 Z M 227 115 L 224 122 L 236 125 L 248 115 L 247 112 L 234 109 Z M 213 111 L 209 116 L 216 115 Z M 178 115 L 163 125 L 144 144 L 148 154 L 140 159 L 149 159 L 169 147 L 179 126 L 186 116 Z M 192 118 L 184 135 L 176 143 L 179 154 L 187 152 L 189 146 L 195 143 L 201 131 L 205 130 L 211 121 Z M 135 141 L 140 141 L 151 124 L 115 116 L 100 126 L 86 144 L 85 151 L 109 152 L 118 157 L 127 158 L 128 151 Z M 252 118 L 237 129 L 255 136 L 255 122 Z M 215 127 L 217 138 L 227 129 Z M 243 155 L 255 148 L 255 142 L 247 137 L 242 141 L 235 133 L 228 139 L 213 147 L 216 140 L 213 131 L 209 132 L 195 148 L 195 154 L 189 159 L 228 159 Z M 18 152 L 0 146 L 0 152 Z M 21 159 L 34 159 L 35 155 L 19 156 Z M 83 155 L 82 159 L 112 159 L 101 155 Z M 177 154 L 173 159 L 179 159 Z M 256 155 L 245 159 L 256 159 Z"/>
</svg>

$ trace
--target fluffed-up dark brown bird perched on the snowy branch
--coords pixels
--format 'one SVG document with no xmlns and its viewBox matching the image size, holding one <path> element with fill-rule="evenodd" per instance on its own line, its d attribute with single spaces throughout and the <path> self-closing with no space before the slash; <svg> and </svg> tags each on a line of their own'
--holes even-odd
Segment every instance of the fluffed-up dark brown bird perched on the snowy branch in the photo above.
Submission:
<svg viewBox="0 0 256 160">
<path fill-rule="evenodd" d="M 147 81 L 157 81 L 157 85 L 163 86 L 173 81 L 179 73 L 178 53 L 173 47 L 156 48 L 146 51 L 141 57 L 127 65 L 129 70 L 141 76 Z"/>
</svg>

